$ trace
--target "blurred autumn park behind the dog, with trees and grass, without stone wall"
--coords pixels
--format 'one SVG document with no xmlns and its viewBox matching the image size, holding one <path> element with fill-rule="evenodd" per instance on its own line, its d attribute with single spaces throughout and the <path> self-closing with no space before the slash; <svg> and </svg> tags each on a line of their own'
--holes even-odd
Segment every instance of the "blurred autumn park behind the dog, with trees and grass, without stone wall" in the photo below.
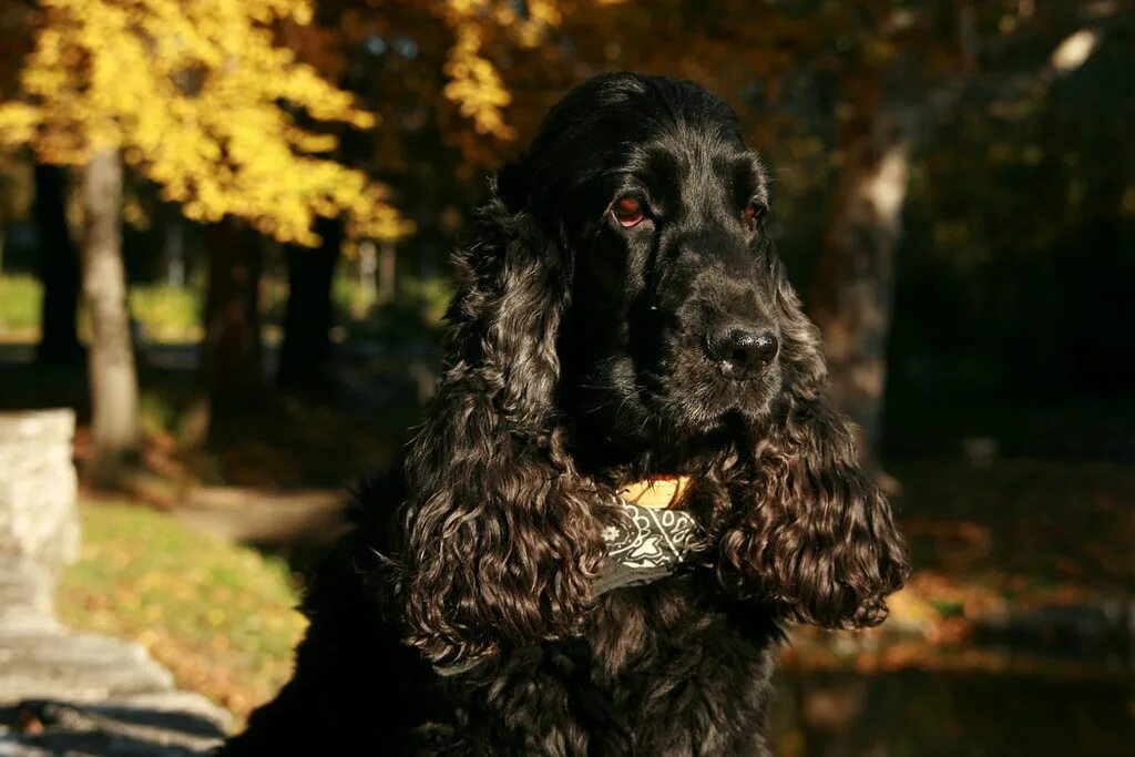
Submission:
<svg viewBox="0 0 1135 757">
<path fill-rule="evenodd" d="M 1133 10 L 0 0 L 0 413 L 77 414 L 58 614 L 238 727 L 430 398 L 486 176 L 573 84 L 667 74 L 772 169 L 914 553 L 883 628 L 793 633 L 777 754 L 1130 754 Z"/>
</svg>

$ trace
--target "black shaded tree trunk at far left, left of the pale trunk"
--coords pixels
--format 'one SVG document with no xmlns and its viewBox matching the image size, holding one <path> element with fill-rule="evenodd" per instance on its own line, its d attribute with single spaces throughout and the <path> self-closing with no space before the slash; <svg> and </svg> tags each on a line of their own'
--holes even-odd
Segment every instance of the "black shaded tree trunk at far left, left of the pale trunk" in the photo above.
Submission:
<svg viewBox="0 0 1135 757">
<path fill-rule="evenodd" d="M 74 365 L 83 359 L 78 343 L 78 250 L 67 233 L 67 171 L 35 166 L 36 259 L 43 303 L 40 310 L 40 365 Z"/>
</svg>

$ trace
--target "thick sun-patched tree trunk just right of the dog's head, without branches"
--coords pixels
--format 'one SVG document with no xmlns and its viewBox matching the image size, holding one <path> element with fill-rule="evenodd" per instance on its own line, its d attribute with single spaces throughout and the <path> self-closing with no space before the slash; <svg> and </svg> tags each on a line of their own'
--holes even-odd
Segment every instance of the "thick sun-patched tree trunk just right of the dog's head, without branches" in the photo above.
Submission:
<svg viewBox="0 0 1135 757">
<path fill-rule="evenodd" d="M 824 337 L 830 396 L 859 426 L 867 457 L 881 441 L 894 250 L 911 138 L 910 119 L 884 107 L 882 78 L 882 72 L 872 72 L 847 89 L 843 165 L 809 303 Z"/>
</svg>

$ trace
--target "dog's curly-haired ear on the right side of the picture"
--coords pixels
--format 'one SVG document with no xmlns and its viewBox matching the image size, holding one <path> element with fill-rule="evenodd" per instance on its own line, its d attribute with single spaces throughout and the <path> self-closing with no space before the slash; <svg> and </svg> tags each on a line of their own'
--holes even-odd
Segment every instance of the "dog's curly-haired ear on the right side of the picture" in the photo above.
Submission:
<svg viewBox="0 0 1135 757">
<path fill-rule="evenodd" d="M 877 625 L 908 573 L 906 547 L 847 421 L 823 397 L 818 331 L 775 266 L 784 392 L 720 513 L 718 575 L 793 621 Z"/>
</svg>

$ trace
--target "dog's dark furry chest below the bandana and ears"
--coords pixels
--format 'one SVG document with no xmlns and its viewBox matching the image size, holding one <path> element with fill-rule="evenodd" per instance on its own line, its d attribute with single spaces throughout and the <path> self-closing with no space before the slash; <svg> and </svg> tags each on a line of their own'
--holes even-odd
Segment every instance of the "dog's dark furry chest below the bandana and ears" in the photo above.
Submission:
<svg viewBox="0 0 1135 757">
<path fill-rule="evenodd" d="M 530 754 L 760 754 L 775 637 L 704 599 L 680 579 L 621 589 L 582 637 L 452 681 L 462 739 Z"/>
</svg>

